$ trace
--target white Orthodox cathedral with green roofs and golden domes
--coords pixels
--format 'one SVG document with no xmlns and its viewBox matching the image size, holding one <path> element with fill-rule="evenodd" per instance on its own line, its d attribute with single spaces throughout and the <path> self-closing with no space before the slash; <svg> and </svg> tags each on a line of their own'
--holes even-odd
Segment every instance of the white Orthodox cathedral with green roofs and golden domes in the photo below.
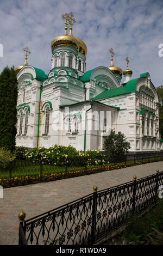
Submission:
<svg viewBox="0 0 163 256">
<path fill-rule="evenodd" d="M 131 79 L 132 71 L 111 64 L 86 71 L 87 48 L 72 35 L 73 15 L 65 34 L 51 42 L 49 74 L 26 62 L 18 66 L 16 145 L 49 148 L 55 144 L 102 149 L 110 129 L 121 131 L 130 151 L 163 149 L 159 131 L 159 99 L 148 72 Z M 68 23 L 71 25 L 67 33 Z M 124 76 L 124 83 L 121 83 Z"/>
</svg>

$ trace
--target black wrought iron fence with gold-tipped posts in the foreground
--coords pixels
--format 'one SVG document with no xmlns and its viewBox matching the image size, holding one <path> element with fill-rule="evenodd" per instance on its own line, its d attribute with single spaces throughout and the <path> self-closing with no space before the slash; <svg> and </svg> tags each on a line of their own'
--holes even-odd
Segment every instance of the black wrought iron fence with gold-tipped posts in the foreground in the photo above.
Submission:
<svg viewBox="0 0 163 256">
<path fill-rule="evenodd" d="M 19 245 L 93 245 L 157 202 L 163 172 L 97 191 L 24 221 L 20 217 Z M 22 233 L 23 230 L 23 233 Z M 26 237 L 26 241 L 24 241 Z"/>
</svg>

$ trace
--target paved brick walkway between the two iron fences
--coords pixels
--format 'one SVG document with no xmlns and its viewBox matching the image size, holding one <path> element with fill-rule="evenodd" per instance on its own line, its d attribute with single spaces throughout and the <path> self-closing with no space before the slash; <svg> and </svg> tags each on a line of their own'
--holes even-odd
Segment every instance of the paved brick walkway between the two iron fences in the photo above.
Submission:
<svg viewBox="0 0 163 256">
<path fill-rule="evenodd" d="M 146 163 L 103 173 L 51 181 L 22 187 L 4 188 L 0 199 L 0 245 L 18 245 L 18 214 L 23 210 L 26 220 L 45 211 L 72 202 L 98 190 L 123 184 L 163 170 L 163 161 Z"/>
</svg>

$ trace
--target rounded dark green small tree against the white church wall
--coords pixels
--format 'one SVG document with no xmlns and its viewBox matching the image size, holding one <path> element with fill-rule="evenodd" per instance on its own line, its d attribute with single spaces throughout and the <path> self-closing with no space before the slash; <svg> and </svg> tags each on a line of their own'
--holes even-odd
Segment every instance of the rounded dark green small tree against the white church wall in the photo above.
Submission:
<svg viewBox="0 0 163 256">
<path fill-rule="evenodd" d="M 104 137 L 103 150 L 110 156 L 123 156 L 130 149 L 130 143 L 122 132 L 111 130 L 109 136 Z"/>
</svg>

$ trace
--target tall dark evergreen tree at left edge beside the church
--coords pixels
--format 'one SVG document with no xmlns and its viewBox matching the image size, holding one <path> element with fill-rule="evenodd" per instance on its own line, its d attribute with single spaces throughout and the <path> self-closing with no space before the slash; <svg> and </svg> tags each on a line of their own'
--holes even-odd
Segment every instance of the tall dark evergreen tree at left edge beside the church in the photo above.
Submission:
<svg viewBox="0 0 163 256">
<path fill-rule="evenodd" d="M 0 147 L 15 149 L 17 122 L 17 78 L 14 67 L 5 67 L 0 75 Z"/>
</svg>

